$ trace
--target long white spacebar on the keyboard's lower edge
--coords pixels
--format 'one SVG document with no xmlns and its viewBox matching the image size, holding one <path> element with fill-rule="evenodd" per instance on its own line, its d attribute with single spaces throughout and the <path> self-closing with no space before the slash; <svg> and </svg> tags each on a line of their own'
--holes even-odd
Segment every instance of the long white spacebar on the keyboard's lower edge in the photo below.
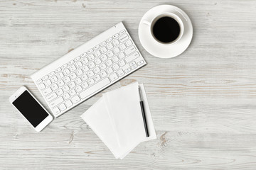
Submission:
<svg viewBox="0 0 256 170">
<path fill-rule="evenodd" d="M 107 84 L 110 84 L 110 79 L 105 78 L 102 81 L 97 82 L 97 84 L 89 87 L 85 91 L 82 91 L 80 93 L 81 98 L 86 98 L 87 96 L 90 96 L 91 94 L 94 94 L 96 91 L 102 89 L 103 87 L 107 86 Z"/>
</svg>

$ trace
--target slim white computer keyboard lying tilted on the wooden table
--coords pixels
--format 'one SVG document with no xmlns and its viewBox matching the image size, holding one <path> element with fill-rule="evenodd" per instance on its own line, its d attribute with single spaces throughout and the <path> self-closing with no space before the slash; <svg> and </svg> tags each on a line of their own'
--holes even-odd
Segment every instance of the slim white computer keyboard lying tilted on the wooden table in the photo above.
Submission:
<svg viewBox="0 0 256 170">
<path fill-rule="evenodd" d="M 31 78 L 57 118 L 145 64 L 120 22 Z"/>
</svg>

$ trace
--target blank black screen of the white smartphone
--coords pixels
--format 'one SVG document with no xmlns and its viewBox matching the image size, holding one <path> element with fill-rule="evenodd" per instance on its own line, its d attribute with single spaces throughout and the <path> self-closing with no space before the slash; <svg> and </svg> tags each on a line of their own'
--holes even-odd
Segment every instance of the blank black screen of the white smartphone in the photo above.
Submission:
<svg viewBox="0 0 256 170">
<path fill-rule="evenodd" d="M 13 104 L 35 128 L 48 116 L 48 113 L 28 91 L 18 96 Z"/>
</svg>

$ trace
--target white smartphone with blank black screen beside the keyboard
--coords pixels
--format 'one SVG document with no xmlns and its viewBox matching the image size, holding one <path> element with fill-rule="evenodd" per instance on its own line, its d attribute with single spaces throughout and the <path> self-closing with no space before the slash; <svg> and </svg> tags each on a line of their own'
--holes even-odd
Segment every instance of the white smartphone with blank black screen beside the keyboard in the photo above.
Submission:
<svg viewBox="0 0 256 170">
<path fill-rule="evenodd" d="M 21 86 L 9 97 L 9 101 L 31 123 L 37 132 L 43 130 L 53 120 L 53 116 L 43 108 L 41 103 L 36 100 L 25 86 Z"/>
</svg>

